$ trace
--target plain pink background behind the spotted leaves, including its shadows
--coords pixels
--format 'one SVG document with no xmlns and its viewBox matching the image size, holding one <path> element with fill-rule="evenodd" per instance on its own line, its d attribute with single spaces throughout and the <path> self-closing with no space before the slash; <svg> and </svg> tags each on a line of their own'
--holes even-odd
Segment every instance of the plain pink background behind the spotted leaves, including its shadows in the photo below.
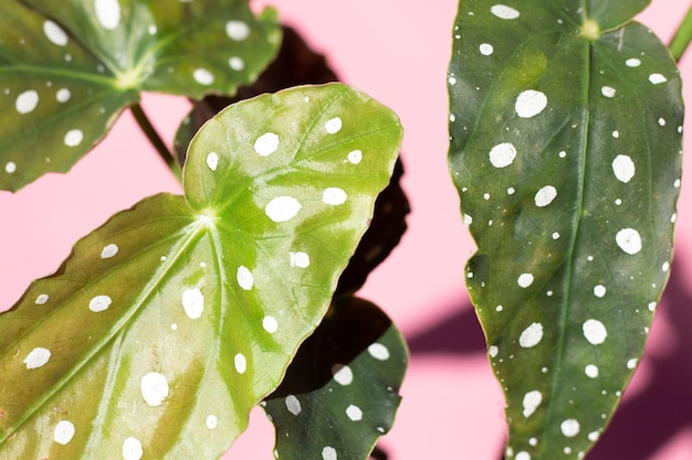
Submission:
<svg viewBox="0 0 692 460">
<path fill-rule="evenodd" d="M 463 287 L 463 266 L 474 247 L 447 172 L 445 69 L 457 1 L 274 0 L 255 6 L 266 3 L 327 54 L 346 83 L 397 111 L 406 129 L 403 186 L 413 210 L 409 231 L 361 291 L 392 317 L 412 351 L 399 417 L 381 446 L 391 460 L 499 460 L 504 403 Z M 686 7 L 680 0 L 653 0 L 639 20 L 668 42 Z M 683 78 L 692 78 L 691 65 L 683 61 Z M 187 103 L 147 95 L 144 108 L 170 140 Z M 691 148 L 688 142 L 685 149 Z M 161 191 L 178 192 L 179 186 L 125 114 L 70 174 L 48 175 L 17 194 L 0 192 L 0 309 L 12 306 L 32 279 L 54 271 L 77 238 Z M 691 205 L 692 190 L 683 180 L 672 280 L 647 356 L 591 460 L 692 458 L 692 339 L 685 328 L 692 324 L 692 312 L 685 311 L 692 306 L 686 285 L 692 281 Z M 272 428 L 255 411 L 249 432 L 224 459 L 271 459 L 272 446 Z"/>
</svg>

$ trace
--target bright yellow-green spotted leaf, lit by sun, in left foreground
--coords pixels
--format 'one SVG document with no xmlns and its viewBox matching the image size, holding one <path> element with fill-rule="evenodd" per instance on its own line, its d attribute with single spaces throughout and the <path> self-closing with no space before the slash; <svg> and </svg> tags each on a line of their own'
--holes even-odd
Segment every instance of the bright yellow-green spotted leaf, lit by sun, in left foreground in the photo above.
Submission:
<svg viewBox="0 0 692 460">
<path fill-rule="evenodd" d="M 117 214 L 0 315 L 0 459 L 219 457 L 327 310 L 400 138 L 337 84 L 210 120 L 185 197 Z"/>
</svg>

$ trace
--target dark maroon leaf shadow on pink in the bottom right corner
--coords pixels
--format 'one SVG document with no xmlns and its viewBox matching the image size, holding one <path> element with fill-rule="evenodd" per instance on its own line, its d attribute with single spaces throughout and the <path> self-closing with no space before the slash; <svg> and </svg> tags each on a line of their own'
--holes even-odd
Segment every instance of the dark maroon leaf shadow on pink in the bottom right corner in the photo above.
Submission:
<svg viewBox="0 0 692 460">
<path fill-rule="evenodd" d="M 657 313 L 657 321 L 669 323 L 672 336 L 667 340 L 672 339 L 673 346 L 663 355 L 646 357 L 650 381 L 622 402 L 588 460 L 646 460 L 692 428 L 692 296 L 684 285 L 684 267 L 675 260 Z"/>
</svg>

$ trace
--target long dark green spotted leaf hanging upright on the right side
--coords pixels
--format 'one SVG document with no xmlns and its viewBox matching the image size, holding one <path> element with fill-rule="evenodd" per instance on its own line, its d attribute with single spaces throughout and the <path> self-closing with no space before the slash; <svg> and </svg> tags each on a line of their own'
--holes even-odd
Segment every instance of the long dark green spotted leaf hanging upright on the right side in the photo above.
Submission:
<svg viewBox="0 0 692 460">
<path fill-rule="evenodd" d="M 506 396 L 507 458 L 585 454 L 667 281 L 680 76 L 647 28 L 605 31 L 644 4 L 460 2 L 450 167 L 479 247 L 466 284 Z"/>
</svg>

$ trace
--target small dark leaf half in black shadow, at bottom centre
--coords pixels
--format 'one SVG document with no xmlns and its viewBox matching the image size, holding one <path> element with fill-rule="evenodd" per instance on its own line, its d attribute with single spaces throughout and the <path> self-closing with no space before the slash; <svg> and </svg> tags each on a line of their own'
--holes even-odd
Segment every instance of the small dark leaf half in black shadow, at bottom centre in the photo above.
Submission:
<svg viewBox="0 0 692 460">
<path fill-rule="evenodd" d="M 374 304 L 335 302 L 264 403 L 276 428 L 277 459 L 365 460 L 389 431 L 408 353 Z"/>
</svg>

